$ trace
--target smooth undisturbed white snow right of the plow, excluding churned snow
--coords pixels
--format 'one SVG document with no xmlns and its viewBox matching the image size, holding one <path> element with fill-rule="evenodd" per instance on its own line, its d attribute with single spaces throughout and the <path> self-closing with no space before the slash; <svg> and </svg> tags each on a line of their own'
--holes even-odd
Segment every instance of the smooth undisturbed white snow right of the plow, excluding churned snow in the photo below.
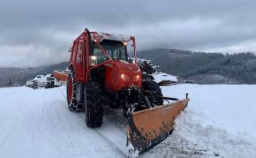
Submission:
<svg viewBox="0 0 256 158">
<path fill-rule="evenodd" d="M 256 85 L 198 85 L 178 84 L 161 87 L 163 94 L 185 98 L 189 93 L 192 112 L 205 117 L 205 125 L 215 125 L 233 134 L 244 133 L 256 138 Z"/>
</svg>

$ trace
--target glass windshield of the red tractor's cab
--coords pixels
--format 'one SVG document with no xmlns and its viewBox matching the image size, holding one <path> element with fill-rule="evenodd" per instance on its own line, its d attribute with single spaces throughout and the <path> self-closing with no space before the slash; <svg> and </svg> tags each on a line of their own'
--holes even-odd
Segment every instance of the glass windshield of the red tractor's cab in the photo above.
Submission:
<svg viewBox="0 0 256 158">
<path fill-rule="evenodd" d="M 124 46 L 122 42 L 105 39 L 100 43 L 100 45 L 104 50 L 106 50 L 112 60 L 127 61 L 126 46 Z M 102 52 L 97 44 L 94 44 L 93 53 L 95 56 L 97 56 L 97 63 L 101 63 L 102 61 L 106 60 L 106 54 Z"/>
</svg>

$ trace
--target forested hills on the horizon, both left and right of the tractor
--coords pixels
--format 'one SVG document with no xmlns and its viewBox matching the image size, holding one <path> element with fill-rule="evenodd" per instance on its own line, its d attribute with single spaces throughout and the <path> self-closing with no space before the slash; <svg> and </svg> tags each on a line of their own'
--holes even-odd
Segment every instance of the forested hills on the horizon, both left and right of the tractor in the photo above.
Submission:
<svg viewBox="0 0 256 158">
<path fill-rule="evenodd" d="M 192 80 L 196 84 L 256 84 L 256 57 L 254 53 L 199 53 L 188 50 L 157 49 L 138 52 L 138 57 L 152 60 L 161 70 Z M 25 84 L 37 74 L 65 69 L 67 62 L 43 67 L 0 67 L 0 87 Z"/>
</svg>

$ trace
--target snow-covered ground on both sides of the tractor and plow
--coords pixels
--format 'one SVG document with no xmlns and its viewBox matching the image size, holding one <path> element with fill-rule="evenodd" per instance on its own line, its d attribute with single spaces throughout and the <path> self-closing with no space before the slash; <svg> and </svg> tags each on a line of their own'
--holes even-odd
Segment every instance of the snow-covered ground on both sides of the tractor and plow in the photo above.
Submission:
<svg viewBox="0 0 256 158">
<path fill-rule="evenodd" d="M 141 157 L 256 157 L 256 85 L 179 84 L 185 98 L 173 135 Z M 126 137 L 108 116 L 98 129 L 69 112 L 65 88 L 0 88 L 0 157 L 125 157 Z"/>
</svg>

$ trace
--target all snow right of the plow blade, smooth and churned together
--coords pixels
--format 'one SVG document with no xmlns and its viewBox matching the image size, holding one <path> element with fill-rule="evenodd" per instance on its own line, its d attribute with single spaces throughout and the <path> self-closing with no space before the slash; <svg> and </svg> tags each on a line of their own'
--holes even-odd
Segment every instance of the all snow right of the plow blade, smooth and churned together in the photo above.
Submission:
<svg viewBox="0 0 256 158">
<path fill-rule="evenodd" d="M 256 156 L 256 106 L 249 85 L 180 84 L 164 94 L 191 101 L 175 121 L 175 131 L 150 150 L 160 157 Z M 182 96 L 183 94 L 183 96 Z"/>
</svg>

